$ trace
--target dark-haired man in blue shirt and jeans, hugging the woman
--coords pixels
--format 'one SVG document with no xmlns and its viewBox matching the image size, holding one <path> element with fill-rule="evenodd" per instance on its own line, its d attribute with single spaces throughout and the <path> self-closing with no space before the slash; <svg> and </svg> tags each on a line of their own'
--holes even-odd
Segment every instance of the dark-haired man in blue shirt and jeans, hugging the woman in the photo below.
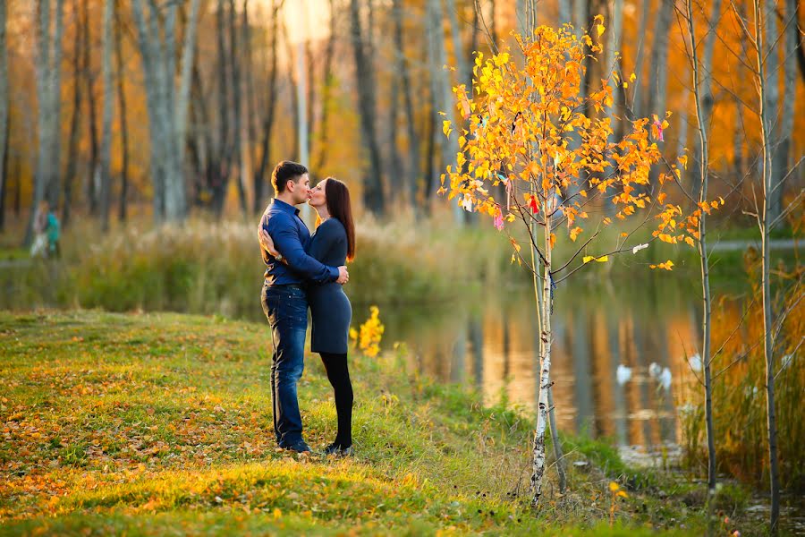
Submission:
<svg viewBox="0 0 805 537">
<path fill-rule="evenodd" d="M 262 247 L 267 265 L 261 303 L 271 325 L 274 356 L 271 363 L 271 401 L 274 432 L 280 447 L 309 452 L 302 439 L 301 414 L 296 395 L 304 370 L 305 335 L 308 331 L 307 282 L 344 284 L 346 267 L 328 267 L 305 253 L 310 232 L 295 206 L 309 199 L 308 169 L 290 161 L 280 162 L 271 176 L 275 197 L 260 220 L 260 229 L 274 239 L 277 257 Z M 259 232 L 258 232 L 259 233 Z M 292 268 L 291 268 L 292 267 Z"/>
</svg>

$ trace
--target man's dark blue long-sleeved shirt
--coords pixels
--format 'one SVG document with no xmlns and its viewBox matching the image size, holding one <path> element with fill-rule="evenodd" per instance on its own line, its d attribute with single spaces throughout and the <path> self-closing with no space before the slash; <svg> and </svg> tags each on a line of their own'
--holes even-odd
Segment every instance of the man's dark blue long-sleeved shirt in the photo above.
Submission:
<svg viewBox="0 0 805 537">
<path fill-rule="evenodd" d="M 275 199 L 268 206 L 260 224 L 274 240 L 276 251 L 288 261 L 285 265 L 260 248 L 263 261 L 267 265 L 266 279 L 269 286 L 302 285 L 308 281 L 326 284 L 338 279 L 338 268 L 323 265 L 305 253 L 310 242 L 310 232 L 299 217 L 299 209 Z"/>
</svg>

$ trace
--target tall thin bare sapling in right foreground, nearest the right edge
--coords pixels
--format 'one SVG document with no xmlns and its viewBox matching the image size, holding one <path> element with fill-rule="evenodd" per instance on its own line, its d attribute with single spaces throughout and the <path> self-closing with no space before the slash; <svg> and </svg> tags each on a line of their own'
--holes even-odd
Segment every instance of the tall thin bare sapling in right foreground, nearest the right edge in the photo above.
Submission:
<svg viewBox="0 0 805 537">
<path fill-rule="evenodd" d="M 777 58 L 773 51 L 776 38 L 775 6 L 767 0 L 754 0 L 755 8 L 755 46 L 758 58 L 757 86 L 760 94 L 760 129 L 763 140 L 763 210 L 760 215 L 760 240 L 762 259 L 763 294 L 763 354 L 766 359 L 766 416 L 768 433 L 769 482 L 771 489 L 771 532 L 777 532 L 780 518 L 780 477 L 777 465 L 777 422 L 775 417 L 775 361 L 774 342 L 772 337 L 771 286 L 769 278 L 768 234 L 771 231 L 772 217 L 771 190 L 773 188 L 774 168 L 773 154 L 775 150 L 773 129 L 777 112 Z M 765 22 L 765 28 L 764 27 Z M 766 35 L 764 36 L 764 31 Z"/>
</svg>

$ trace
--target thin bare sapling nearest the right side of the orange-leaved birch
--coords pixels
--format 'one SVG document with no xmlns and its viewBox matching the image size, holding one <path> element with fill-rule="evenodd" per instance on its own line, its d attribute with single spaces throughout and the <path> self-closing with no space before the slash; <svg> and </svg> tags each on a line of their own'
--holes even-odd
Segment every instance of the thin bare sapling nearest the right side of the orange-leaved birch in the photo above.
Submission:
<svg viewBox="0 0 805 537">
<path fill-rule="evenodd" d="M 687 22 L 688 35 L 691 38 L 691 72 L 693 75 L 693 98 L 696 102 L 696 125 L 699 133 L 697 148 L 699 152 L 698 176 L 699 184 L 694 184 L 692 195 L 699 199 L 699 206 L 703 205 L 708 198 L 708 173 L 709 173 L 709 114 L 713 107 L 713 96 L 710 93 L 710 67 L 713 61 L 713 46 L 716 38 L 716 21 L 721 12 L 721 0 L 714 0 L 711 11 L 708 38 L 705 40 L 705 58 L 703 64 L 699 64 L 699 53 L 697 50 L 697 37 L 695 29 L 695 19 L 693 18 L 693 0 L 687 0 Z M 698 190 L 698 192 L 697 192 Z M 705 380 L 705 422 L 708 434 L 708 508 L 712 508 L 712 500 L 716 494 L 716 440 L 715 430 L 713 429 L 713 381 L 710 373 L 710 273 L 708 260 L 707 243 L 707 220 L 708 215 L 701 211 L 699 215 L 699 266 L 701 267 L 701 287 L 702 287 L 702 344 L 701 362 L 704 368 Z"/>
</svg>

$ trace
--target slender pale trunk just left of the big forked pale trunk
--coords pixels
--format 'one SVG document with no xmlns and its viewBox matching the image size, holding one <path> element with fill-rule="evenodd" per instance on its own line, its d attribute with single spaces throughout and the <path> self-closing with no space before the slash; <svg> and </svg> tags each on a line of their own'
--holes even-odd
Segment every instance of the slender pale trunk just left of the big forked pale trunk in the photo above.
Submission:
<svg viewBox="0 0 805 537">
<path fill-rule="evenodd" d="M 114 17 L 114 0 L 104 3 L 104 21 L 101 33 L 101 72 L 104 82 L 104 111 L 101 126 L 101 189 L 100 219 L 101 229 L 109 230 L 109 203 L 111 191 L 112 161 L 112 119 L 114 116 L 114 87 L 112 82 L 112 21 Z"/>
</svg>

